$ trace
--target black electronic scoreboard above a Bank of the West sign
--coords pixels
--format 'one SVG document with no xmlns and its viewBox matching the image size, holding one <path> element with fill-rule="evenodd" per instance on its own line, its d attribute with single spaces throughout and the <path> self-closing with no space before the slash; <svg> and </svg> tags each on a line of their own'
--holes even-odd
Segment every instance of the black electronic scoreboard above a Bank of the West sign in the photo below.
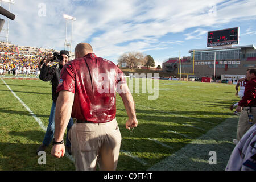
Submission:
<svg viewBox="0 0 256 182">
<path fill-rule="evenodd" d="M 207 47 L 238 44 L 239 27 L 208 32 Z"/>
</svg>

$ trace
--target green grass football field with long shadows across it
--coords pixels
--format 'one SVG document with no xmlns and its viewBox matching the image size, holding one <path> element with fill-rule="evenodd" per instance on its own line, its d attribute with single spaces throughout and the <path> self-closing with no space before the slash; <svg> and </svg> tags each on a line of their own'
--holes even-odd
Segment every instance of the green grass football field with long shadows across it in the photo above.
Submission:
<svg viewBox="0 0 256 182">
<path fill-rule="evenodd" d="M 51 146 L 46 150 L 46 165 L 38 164 L 40 156 L 35 152 L 43 141 L 44 131 L 4 81 L 44 126 L 48 125 L 52 104 L 49 82 L 0 78 L 0 170 L 75 170 L 66 156 L 53 158 Z M 156 100 L 148 100 L 147 93 L 133 93 L 139 125 L 131 131 L 125 129 L 127 114 L 121 97 L 117 96 L 117 121 L 122 134 L 117 170 L 146 170 L 166 160 L 226 119 L 234 118 L 229 106 L 239 100 L 234 96 L 234 85 L 227 84 L 159 80 L 156 90 Z M 236 136 L 236 130 L 228 131 Z M 231 154 L 232 140 L 222 141 L 224 144 L 214 146 L 226 147 L 227 154 Z M 195 165 L 200 168 L 209 157 L 204 162 L 195 160 Z M 218 163 L 220 166 L 214 169 L 225 169 L 227 162 Z"/>
</svg>

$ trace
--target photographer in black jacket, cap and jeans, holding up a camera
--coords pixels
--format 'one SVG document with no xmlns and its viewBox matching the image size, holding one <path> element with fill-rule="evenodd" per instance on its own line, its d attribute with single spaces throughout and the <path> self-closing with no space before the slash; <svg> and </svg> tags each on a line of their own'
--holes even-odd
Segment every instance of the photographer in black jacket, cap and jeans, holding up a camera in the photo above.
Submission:
<svg viewBox="0 0 256 182">
<path fill-rule="evenodd" d="M 49 63 L 55 61 L 59 64 L 50 66 Z M 51 81 L 52 84 L 52 107 L 51 107 L 51 114 L 49 115 L 49 124 L 46 130 L 46 134 L 44 135 L 43 144 L 40 145 L 38 150 L 36 151 L 36 154 L 38 154 L 39 151 L 46 150 L 46 147 L 51 144 L 51 141 L 54 136 L 54 117 L 55 117 L 55 109 L 56 109 L 56 101 L 58 94 L 56 94 L 57 86 L 59 85 L 60 81 L 60 73 L 61 69 L 64 67 L 64 65 L 69 61 L 69 52 L 65 50 L 61 50 L 60 53 L 49 53 L 41 62 L 40 62 L 40 80 L 43 81 Z M 41 64 L 44 63 L 41 67 Z M 73 125 L 73 119 L 69 119 L 69 123 L 67 126 L 67 129 L 71 129 Z M 66 148 L 68 153 L 71 155 L 71 143 L 68 139 L 68 131 L 67 131 L 67 140 L 66 140 Z M 53 142 L 54 139 L 53 139 Z"/>
</svg>

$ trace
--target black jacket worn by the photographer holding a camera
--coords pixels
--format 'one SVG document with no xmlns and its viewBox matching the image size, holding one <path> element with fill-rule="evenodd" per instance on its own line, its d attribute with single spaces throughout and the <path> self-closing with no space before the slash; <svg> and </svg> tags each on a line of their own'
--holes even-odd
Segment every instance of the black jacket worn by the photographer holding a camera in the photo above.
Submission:
<svg viewBox="0 0 256 182">
<path fill-rule="evenodd" d="M 59 68 L 57 68 L 59 65 Z M 39 78 L 43 81 L 51 81 L 52 82 L 52 101 L 56 102 L 59 93 L 56 94 L 57 86 L 59 85 L 60 81 L 60 73 L 63 65 L 57 64 L 53 67 L 46 66 L 43 64 L 43 67 L 40 71 Z"/>
</svg>

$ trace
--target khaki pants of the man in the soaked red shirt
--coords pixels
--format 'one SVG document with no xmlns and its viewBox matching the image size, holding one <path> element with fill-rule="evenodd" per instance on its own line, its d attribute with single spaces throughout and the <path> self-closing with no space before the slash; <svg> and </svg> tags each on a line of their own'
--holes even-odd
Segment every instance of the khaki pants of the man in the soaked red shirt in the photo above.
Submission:
<svg viewBox="0 0 256 182">
<path fill-rule="evenodd" d="M 117 120 L 107 123 L 76 123 L 68 133 L 76 170 L 100 170 L 117 168 L 121 133 Z"/>
</svg>

